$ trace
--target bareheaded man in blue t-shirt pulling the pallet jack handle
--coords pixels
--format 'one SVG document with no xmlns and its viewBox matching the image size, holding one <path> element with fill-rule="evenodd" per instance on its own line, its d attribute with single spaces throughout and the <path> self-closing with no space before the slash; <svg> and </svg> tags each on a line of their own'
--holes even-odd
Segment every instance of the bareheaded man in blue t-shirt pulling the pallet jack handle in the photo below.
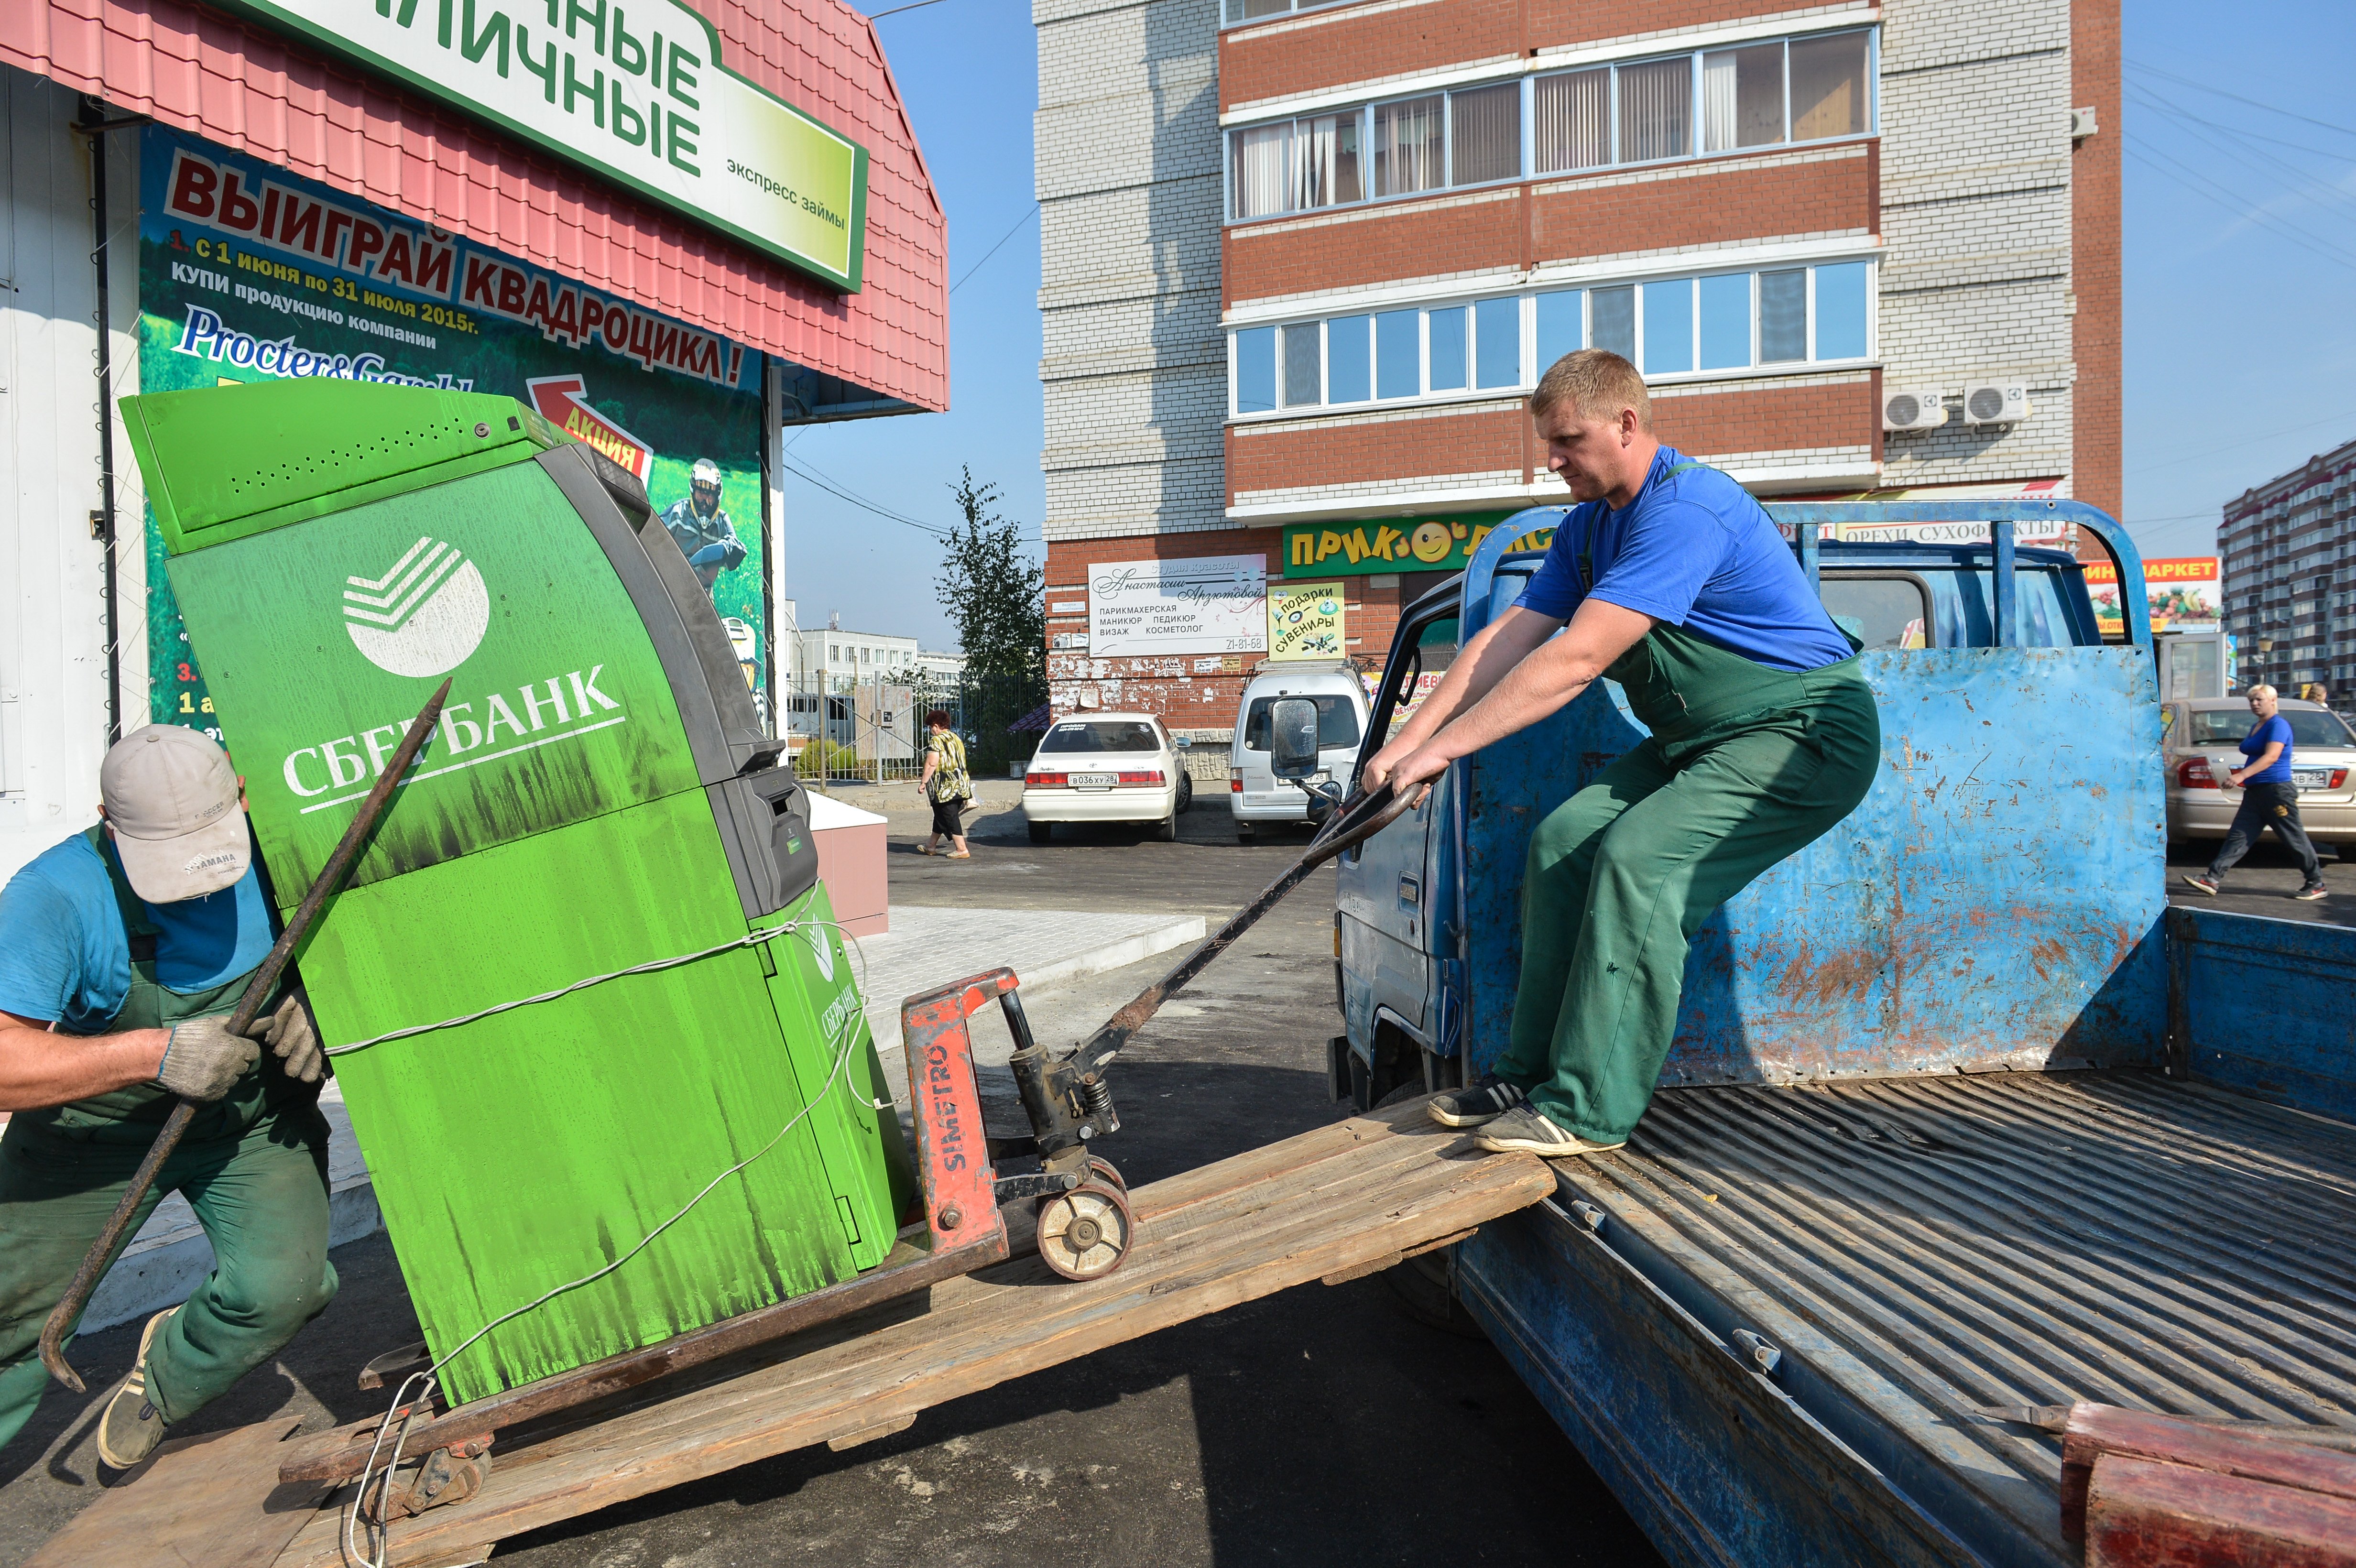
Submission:
<svg viewBox="0 0 2356 1568">
<path fill-rule="evenodd" d="M 1687 944 L 1866 798 L 1880 718 L 1857 643 L 1774 520 L 1654 440 L 1635 365 L 1564 356 L 1529 403 L 1546 466 L 1581 506 L 1376 753 L 1366 789 L 1423 786 L 1597 676 L 1652 727 L 1531 833 L 1508 1050 L 1430 1107 L 1480 1128 L 1482 1149 L 1560 1158 L 1628 1142 L 1677 1026 Z"/>
</svg>

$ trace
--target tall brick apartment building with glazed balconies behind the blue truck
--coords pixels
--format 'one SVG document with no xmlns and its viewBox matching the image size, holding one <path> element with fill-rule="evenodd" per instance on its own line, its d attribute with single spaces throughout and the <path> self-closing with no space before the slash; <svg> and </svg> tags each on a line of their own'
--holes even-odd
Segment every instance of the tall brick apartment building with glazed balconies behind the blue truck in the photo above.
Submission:
<svg viewBox="0 0 2356 1568">
<path fill-rule="evenodd" d="M 1235 605 L 1253 558 L 1338 582 L 1381 659 L 1484 525 L 1562 499 L 1527 396 L 1579 346 L 1760 494 L 2118 506 L 2118 0 L 1034 21 L 1058 711 L 1218 732 L 1260 657 L 1107 638 L 1112 563 Z"/>
</svg>

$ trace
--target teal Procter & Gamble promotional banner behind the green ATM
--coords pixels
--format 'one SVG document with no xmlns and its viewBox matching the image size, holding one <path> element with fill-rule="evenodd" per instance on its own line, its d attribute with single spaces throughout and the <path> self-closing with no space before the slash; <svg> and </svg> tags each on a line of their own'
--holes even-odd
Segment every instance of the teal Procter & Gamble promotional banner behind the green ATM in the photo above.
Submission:
<svg viewBox="0 0 2356 1568">
<path fill-rule="evenodd" d="M 683 553 L 709 551 L 697 577 L 766 702 L 759 353 L 160 125 L 139 179 L 139 391 L 327 377 L 521 398 L 636 473 Z M 153 520 L 146 556 L 151 713 L 219 739 Z M 483 593 L 471 563 L 450 584 Z"/>
</svg>

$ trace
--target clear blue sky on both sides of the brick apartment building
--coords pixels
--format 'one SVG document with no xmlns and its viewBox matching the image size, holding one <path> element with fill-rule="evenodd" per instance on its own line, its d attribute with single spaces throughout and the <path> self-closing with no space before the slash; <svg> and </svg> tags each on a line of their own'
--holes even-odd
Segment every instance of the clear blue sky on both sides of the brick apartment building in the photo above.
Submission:
<svg viewBox="0 0 2356 1568">
<path fill-rule="evenodd" d="M 787 593 L 803 626 L 839 610 L 947 645 L 935 542 L 792 466 L 947 523 L 971 464 L 1039 537 L 1039 57 L 1015 0 L 876 26 L 949 212 L 949 412 L 794 440 Z M 2219 26 L 2215 5 L 2127 0 L 2125 54 L 2123 125 L 2102 127 L 2125 139 L 2127 174 L 2125 511 L 2146 556 L 2193 556 L 2215 549 L 2222 501 L 2356 436 L 2356 7 L 2285 0 Z"/>
</svg>

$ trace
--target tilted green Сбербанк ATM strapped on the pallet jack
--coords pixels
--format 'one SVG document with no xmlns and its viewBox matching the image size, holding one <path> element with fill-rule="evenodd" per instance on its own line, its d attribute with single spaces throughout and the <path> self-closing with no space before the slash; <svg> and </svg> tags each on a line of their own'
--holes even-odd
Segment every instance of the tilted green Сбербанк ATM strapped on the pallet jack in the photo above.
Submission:
<svg viewBox="0 0 2356 1568">
<path fill-rule="evenodd" d="M 330 1048 L 396 1036 L 335 1071 L 436 1358 L 775 1144 L 464 1349 L 445 1396 L 881 1262 L 912 1177 L 806 798 L 636 476 L 483 393 L 123 410 L 287 906 L 452 680 L 299 961 Z"/>
</svg>

